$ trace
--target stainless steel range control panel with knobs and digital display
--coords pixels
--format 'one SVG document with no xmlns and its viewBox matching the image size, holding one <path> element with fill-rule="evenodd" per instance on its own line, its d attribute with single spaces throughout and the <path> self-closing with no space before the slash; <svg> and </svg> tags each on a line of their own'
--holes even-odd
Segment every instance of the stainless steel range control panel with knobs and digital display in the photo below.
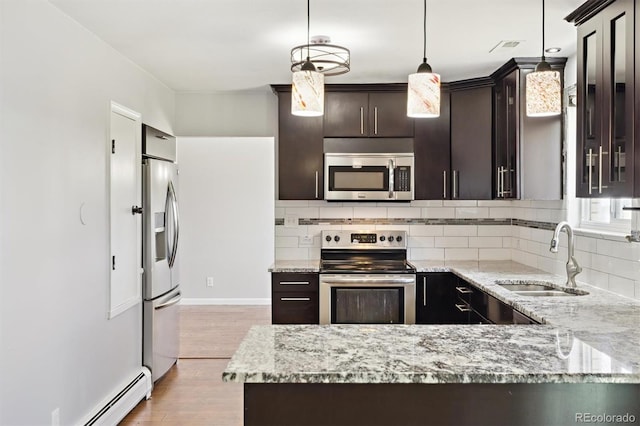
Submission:
<svg viewBox="0 0 640 426">
<path fill-rule="evenodd" d="M 407 248 L 406 231 L 322 231 L 322 248 Z"/>
</svg>

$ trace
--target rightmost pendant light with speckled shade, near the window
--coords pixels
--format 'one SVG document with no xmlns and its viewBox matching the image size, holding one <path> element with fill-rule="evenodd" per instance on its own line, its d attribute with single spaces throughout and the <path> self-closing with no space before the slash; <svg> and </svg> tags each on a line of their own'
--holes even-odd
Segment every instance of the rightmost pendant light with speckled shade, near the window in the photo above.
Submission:
<svg viewBox="0 0 640 426">
<path fill-rule="evenodd" d="M 542 55 L 534 72 L 527 74 L 528 117 L 558 115 L 561 111 L 560 72 L 553 71 L 544 57 L 544 0 L 542 0 Z"/>
</svg>

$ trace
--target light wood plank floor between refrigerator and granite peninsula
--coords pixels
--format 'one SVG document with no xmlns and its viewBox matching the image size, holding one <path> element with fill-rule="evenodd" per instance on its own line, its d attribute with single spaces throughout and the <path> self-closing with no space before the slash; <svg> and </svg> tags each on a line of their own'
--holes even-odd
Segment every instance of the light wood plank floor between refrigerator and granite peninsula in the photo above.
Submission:
<svg viewBox="0 0 640 426">
<path fill-rule="evenodd" d="M 242 384 L 222 371 L 249 328 L 270 323 L 270 306 L 181 306 L 178 364 L 120 425 L 241 426 Z"/>
</svg>

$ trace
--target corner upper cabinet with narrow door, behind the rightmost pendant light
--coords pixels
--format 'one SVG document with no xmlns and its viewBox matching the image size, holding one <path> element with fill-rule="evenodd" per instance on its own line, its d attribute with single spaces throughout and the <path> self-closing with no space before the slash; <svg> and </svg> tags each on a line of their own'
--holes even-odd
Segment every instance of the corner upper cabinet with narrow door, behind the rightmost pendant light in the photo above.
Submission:
<svg viewBox="0 0 640 426">
<path fill-rule="evenodd" d="M 567 58 L 546 58 L 564 81 Z M 493 197 L 562 199 L 562 115 L 527 117 L 526 76 L 540 58 L 514 58 L 496 70 L 493 89 Z"/>
</svg>

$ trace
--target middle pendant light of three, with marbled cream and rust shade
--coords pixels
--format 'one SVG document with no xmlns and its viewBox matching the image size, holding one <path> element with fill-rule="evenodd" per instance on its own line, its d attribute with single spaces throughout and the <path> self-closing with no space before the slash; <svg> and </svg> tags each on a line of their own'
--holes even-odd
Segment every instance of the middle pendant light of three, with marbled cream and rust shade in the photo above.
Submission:
<svg viewBox="0 0 640 426">
<path fill-rule="evenodd" d="M 409 75 L 407 116 L 414 118 L 440 116 L 440 75 L 427 63 L 427 0 L 424 0 L 424 32 L 422 63 Z"/>
</svg>

